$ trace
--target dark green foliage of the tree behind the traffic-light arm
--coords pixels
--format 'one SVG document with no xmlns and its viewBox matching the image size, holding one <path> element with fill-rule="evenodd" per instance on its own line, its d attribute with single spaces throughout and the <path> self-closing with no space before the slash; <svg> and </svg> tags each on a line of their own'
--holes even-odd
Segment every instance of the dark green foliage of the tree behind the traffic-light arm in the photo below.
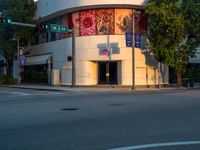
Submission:
<svg viewBox="0 0 200 150">
<path fill-rule="evenodd" d="M 3 16 L 11 18 L 14 22 L 32 23 L 35 9 L 36 5 L 33 0 L 0 0 L 0 12 Z M 3 25 L 3 28 L 4 30 L 6 29 L 9 31 L 9 34 L 12 36 L 15 32 L 16 35 L 20 37 L 22 46 L 28 44 L 28 40 L 30 39 L 30 28 L 13 25 Z"/>
</svg>

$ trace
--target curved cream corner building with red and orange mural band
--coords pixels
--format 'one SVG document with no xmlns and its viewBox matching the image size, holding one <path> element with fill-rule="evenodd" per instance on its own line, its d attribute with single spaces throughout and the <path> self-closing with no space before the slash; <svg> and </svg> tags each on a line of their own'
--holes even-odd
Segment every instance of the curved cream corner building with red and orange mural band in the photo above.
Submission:
<svg viewBox="0 0 200 150">
<path fill-rule="evenodd" d="M 130 86 L 132 69 L 136 86 L 168 84 L 168 66 L 161 64 L 158 69 L 148 50 L 144 5 L 144 0 L 39 0 L 38 27 L 26 51 L 25 78 L 30 76 L 26 70 L 45 68 L 46 78 L 58 78 L 55 84 L 71 85 L 72 35 L 44 28 L 46 24 L 63 24 L 75 30 L 76 85 Z M 127 32 L 142 35 L 134 58 L 132 47 L 126 47 Z"/>
</svg>

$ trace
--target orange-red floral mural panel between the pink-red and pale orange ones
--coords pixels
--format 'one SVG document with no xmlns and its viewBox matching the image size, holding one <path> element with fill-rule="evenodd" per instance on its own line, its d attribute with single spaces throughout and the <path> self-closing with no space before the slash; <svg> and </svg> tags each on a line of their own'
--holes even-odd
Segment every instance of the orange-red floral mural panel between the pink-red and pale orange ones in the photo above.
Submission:
<svg viewBox="0 0 200 150">
<path fill-rule="evenodd" d="M 97 34 L 114 34 L 114 20 L 115 12 L 114 9 L 97 9 L 96 10 L 96 25 Z"/>
</svg>

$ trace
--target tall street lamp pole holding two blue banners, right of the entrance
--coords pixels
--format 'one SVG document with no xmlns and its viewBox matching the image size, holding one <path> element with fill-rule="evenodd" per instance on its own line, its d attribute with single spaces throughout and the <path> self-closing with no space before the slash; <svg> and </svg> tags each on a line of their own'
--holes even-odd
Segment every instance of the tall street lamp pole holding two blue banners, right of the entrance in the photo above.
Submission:
<svg viewBox="0 0 200 150">
<path fill-rule="evenodd" d="M 140 11 L 133 11 L 133 36 L 132 36 L 132 91 L 135 90 L 135 15 Z"/>
</svg>

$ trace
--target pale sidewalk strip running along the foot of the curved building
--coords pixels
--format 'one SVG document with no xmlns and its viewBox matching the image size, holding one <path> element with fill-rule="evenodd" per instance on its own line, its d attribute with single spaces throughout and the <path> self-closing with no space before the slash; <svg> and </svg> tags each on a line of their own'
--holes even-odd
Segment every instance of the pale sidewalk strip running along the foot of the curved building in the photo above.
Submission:
<svg viewBox="0 0 200 150">
<path fill-rule="evenodd" d="M 68 91 L 68 92 L 131 92 L 130 87 L 74 87 L 69 86 L 48 86 L 48 85 L 34 85 L 34 84 L 20 84 L 20 85 L 2 85 L 1 87 L 10 87 L 10 88 L 21 88 L 21 89 L 33 89 L 33 90 L 47 90 L 47 91 Z M 136 88 L 133 92 L 159 92 L 159 91 L 174 91 L 174 90 L 186 90 L 191 88 L 177 88 L 177 87 L 162 87 L 162 88 Z M 194 89 L 194 88 L 192 88 Z"/>
</svg>

